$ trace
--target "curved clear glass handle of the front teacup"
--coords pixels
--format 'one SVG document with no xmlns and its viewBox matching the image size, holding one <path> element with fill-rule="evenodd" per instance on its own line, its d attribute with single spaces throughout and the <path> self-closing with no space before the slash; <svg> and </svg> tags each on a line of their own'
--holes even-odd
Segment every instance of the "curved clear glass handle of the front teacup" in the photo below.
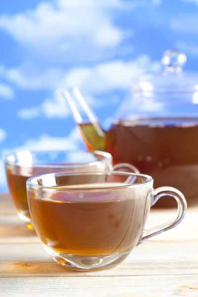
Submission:
<svg viewBox="0 0 198 297">
<path fill-rule="evenodd" d="M 153 237 L 157 234 L 160 234 L 164 231 L 167 231 L 169 229 L 176 227 L 183 220 L 186 210 L 187 210 L 187 202 L 186 202 L 184 195 L 179 190 L 177 190 L 175 188 L 160 187 L 160 188 L 155 189 L 153 191 L 154 199 L 153 199 L 151 206 L 153 206 L 157 202 L 158 199 L 160 199 L 164 196 L 173 197 L 177 201 L 178 208 L 177 208 L 176 217 L 167 223 L 164 223 L 164 224 L 158 225 L 154 228 L 145 230 L 143 232 L 143 236 L 141 237 L 138 245 L 142 244 L 144 241 L 148 240 L 150 237 Z"/>
</svg>

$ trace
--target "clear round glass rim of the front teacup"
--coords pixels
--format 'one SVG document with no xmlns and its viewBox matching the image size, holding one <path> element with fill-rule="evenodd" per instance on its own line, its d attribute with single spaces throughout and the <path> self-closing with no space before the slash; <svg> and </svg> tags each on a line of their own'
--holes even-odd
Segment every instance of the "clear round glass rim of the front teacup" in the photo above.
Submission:
<svg viewBox="0 0 198 297">
<path fill-rule="evenodd" d="M 76 189 L 72 188 L 72 186 L 69 186 L 69 188 L 64 187 L 64 188 L 59 188 L 56 186 L 44 186 L 44 185 L 37 185 L 34 183 L 34 180 L 38 180 L 42 178 L 43 176 L 75 176 L 75 175 L 104 175 L 104 174 L 115 174 L 115 175 L 128 175 L 128 176 L 139 176 L 139 177 L 145 177 L 147 178 L 146 181 L 137 183 L 137 184 L 126 184 L 122 186 L 112 186 L 112 187 L 107 187 L 107 188 L 99 188 L 99 189 Z M 102 191 L 112 191 L 112 190 L 118 190 L 118 189 L 131 189 L 131 188 L 136 188 L 136 187 L 141 187 L 145 184 L 148 184 L 153 181 L 153 178 L 147 174 L 142 174 L 142 173 L 133 173 L 133 172 L 123 172 L 123 171 L 78 171 L 78 172 L 73 172 L 73 171 L 67 171 L 67 172 L 56 172 L 56 173 L 47 173 L 47 174 L 40 174 L 36 176 L 30 177 L 26 181 L 26 186 L 34 189 L 39 189 L 39 190 L 54 190 L 57 192 L 102 192 Z"/>
</svg>

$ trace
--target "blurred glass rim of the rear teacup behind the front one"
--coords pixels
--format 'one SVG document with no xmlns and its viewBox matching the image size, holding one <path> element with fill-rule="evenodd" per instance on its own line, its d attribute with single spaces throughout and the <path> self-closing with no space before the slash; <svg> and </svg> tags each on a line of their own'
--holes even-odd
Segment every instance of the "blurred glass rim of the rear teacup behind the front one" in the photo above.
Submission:
<svg viewBox="0 0 198 297">
<path fill-rule="evenodd" d="M 30 153 L 35 153 L 35 154 L 39 154 L 39 153 L 66 153 L 66 152 L 85 152 L 85 153 L 93 153 L 93 154 L 96 154 L 96 155 L 99 155 L 99 156 L 102 156 L 103 159 L 102 160 L 98 160 L 98 161 L 94 161 L 94 162 L 87 162 L 87 163 L 65 163 L 65 164 L 58 164 L 58 163 L 32 163 L 31 165 L 20 165 L 19 162 L 17 161 L 10 161 L 8 160 L 9 157 L 11 156 L 17 156 L 17 153 L 19 152 L 30 152 Z M 79 167 L 79 166 L 85 166 L 85 167 L 89 167 L 89 166 L 93 166 L 93 165 L 98 165 L 99 163 L 103 163 L 105 162 L 106 160 L 109 160 L 109 161 L 112 161 L 113 157 L 112 155 L 109 153 L 109 152 L 106 152 L 106 151 L 101 151 L 101 150 L 97 150 L 97 149 L 94 149 L 94 150 L 83 150 L 83 149 L 58 149 L 58 150 L 30 150 L 30 149 L 19 149 L 19 150 L 16 150 L 14 152 L 10 152 L 8 153 L 7 155 L 4 156 L 4 162 L 5 164 L 8 164 L 8 165 L 13 165 L 13 166 L 21 166 L 21 167 L 29 167 L 29 168 L 75 168 L 75 167 Z"/>
</svg>

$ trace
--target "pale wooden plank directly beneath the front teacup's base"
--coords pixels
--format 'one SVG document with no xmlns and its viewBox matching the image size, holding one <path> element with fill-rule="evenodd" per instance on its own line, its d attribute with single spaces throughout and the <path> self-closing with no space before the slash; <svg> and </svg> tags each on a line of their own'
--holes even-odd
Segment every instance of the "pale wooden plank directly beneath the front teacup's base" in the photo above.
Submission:
<svg viewBox="0 0 198 297">
<path fill-rule="evenodd" d="M 6 248 L 5 248 L 6 247 Z M 13 252 L 14 251 L 14 252 Z M 130 256 L 111 270 L 70 272 L 56 264 L 41 244 L 0 246 L 0 277 L 54 276 L 198 276 L 198 241 L 181 243 L 147 242 L 136 247 Z"/>
</svg>

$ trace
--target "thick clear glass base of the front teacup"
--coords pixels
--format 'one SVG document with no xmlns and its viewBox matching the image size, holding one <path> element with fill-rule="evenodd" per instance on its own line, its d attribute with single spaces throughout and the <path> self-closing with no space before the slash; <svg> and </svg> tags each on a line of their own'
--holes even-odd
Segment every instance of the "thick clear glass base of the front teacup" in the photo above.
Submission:
<svg viewBox="0 0 198 297">
<path fill-rule="evenodd" d="M 101 256 L 84 256 L 57 253 L 45 246 L 49 255 L 58 263 L 69 270 L 94 271 L 110 269 L 120 264 L 129 255 L 130 251 L 124 253 L 114 253 Z"/>
</svg>

